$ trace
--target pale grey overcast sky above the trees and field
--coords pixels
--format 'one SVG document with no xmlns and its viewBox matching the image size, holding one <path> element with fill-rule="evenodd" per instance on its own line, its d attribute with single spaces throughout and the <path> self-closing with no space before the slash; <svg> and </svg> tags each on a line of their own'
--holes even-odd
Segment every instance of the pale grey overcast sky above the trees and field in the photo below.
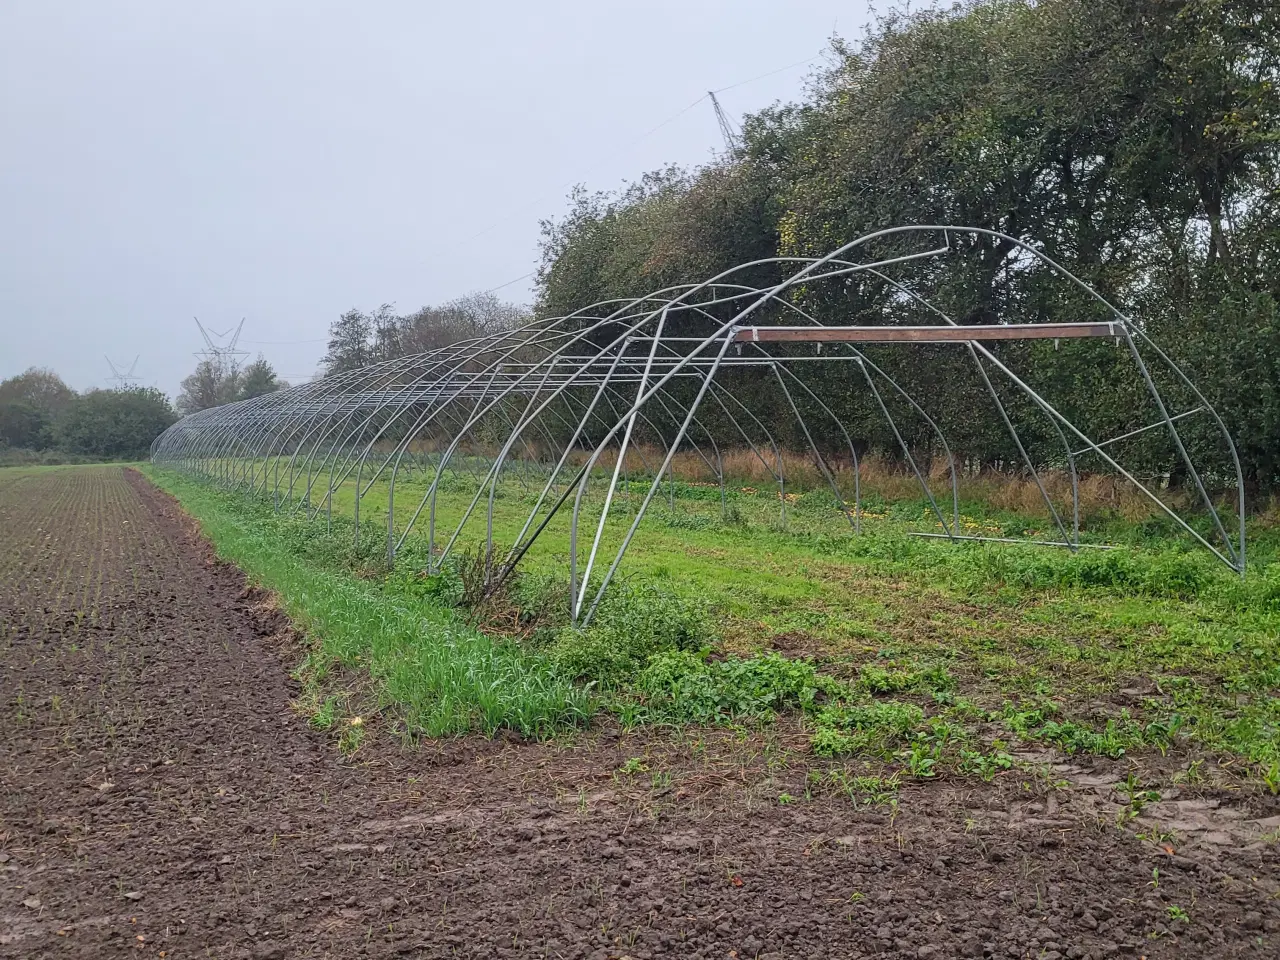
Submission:
<svg viewBox="0 0 1280 960">
<path fill-rule="evenodd" d="M 3 0 L 0 378 L 83 389 L 104 355 L 141 355 L 172 397 L 193 316 L 246 317 L 247 349 L 307 376 L 343 310 L 529 273 L 572 183 L 704 163 L 708 102 L 653 128 L 731 84 L 733 116 L 794 99 L 819 65 L 794 64 L 865 19 L 865 0 Z"/>
</svg>

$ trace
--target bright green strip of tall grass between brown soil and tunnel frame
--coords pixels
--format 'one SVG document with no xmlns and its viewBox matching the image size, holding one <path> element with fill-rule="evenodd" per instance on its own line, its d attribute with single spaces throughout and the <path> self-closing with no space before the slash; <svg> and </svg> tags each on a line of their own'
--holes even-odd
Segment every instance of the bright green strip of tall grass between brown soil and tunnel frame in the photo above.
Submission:
<svg viewBox="0 0 1280 960">
<path fill-rule="evenodd" d="M 314 644 L 307 667 L 315 676 L 333 664 L 367 669 L 380 696 L 404 708 L 411 728 L 540 736 L 594 710 L 589 692 L 558 676 L 548 658 L 485 636 L 406 577 L 364 580 L 343 570 L 337 548 L 349 549 L 349 521 L 326 532 L 174 474 L 147 475 L 182 502 L 219 557 L 280 596 Z"/>
</svg>

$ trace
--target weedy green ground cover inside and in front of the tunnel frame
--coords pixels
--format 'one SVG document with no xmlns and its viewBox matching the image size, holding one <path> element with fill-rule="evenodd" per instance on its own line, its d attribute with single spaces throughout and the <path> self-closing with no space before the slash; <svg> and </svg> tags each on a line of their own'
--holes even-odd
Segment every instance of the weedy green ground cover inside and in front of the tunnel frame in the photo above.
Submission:
<svg viewBox="0 0 1280 960">
<path fill-rule="evenodd" d="M 212 495 L 202 485 L 160 479 L 184 503 Z M 447 480 L 438 548 L 474 489 Z M 397 483 L 398 531 L 425 490 L 421 475 Z M 1249 760 L 1263 780 L 1280 760 L 1280 563 L 1272 562 L 1280 536 L 1261 522 L 1252 531 L 1254 566 L 1240 580 L 1162 521 L 1091 517 L 1085 538 L 1123 549 L 1070 553 L 910 536 L 936 526 L 923 502 L 869 497 L 877 509 L 854 536 L 820 492 L 790 503 L 786 525 L 776 492 L 731 490 L 727 520 L 714 488 L 677 483 L 675 494 L 672 508 L 663 486 L 626 556 L 623 580 L 585 631 L 566 625 L 568 511 L 558 515 L 507 598 L 527 630 L 518 644 L 488 641 L 508 650 L 504 664 L 558 690 L 571 681 L 572 690 L 590 689 L 625 724 L 762 723 L 799 713 L 817 754 L 876 756 L 918 777 L 943 769 L 995 776 L 1007 769 L 1014 739 L 1106 756 L 1208 751 Z M 623 486 L 621 509 L 605 525 L 605 561 L 641 495 L 640 483 Z M 379 596 L 389 591 L 415 616 L 430 609 L 430 617 L 462 628 L 451 609 L 456 577 L 419 576 L 425 518 L 379 584 L 333 572 L 342 564 L 376 567 L 385 502 L 385 485 L 362 500 L 360 556 L 351 552 L 352 484 L 335 494 L 342 532 L 328 545 L 315 532 L 324 530 L 323 515 L 307 525 L 274 518 L 243 497 L 218 504 L 229 518 L 246 517 L 237 521 L 246 538 L 270 540 L 274 549 L 292 535 L 284 527 L 310 530 L 298 534 L 310 538 L 308 562 L 319 557 L 342 582 Z M 499 486 L 497 543 L 515 540 L 531 503 L 515 479 Z M 483 536 L 484 506 L 460 545 Z M 585 529 L 594 530 L 598 509 L 589 498 Z M 963 511 L 970 529 L 992 534 L 1044 527 L 1043 520 L 982 504 Z M 416 643 L 402 637 L 396 658 L 412 659 Z M 428 699 L 419 692 L 415 709 L 429 710 L 429 698 L 452 682 L 421 687 Z M 410 703 L 401 687 L 387 690 Z M 577 707 L 566 717 L 572 719 L 550 723 L 576 722 Z"/>
</svg>

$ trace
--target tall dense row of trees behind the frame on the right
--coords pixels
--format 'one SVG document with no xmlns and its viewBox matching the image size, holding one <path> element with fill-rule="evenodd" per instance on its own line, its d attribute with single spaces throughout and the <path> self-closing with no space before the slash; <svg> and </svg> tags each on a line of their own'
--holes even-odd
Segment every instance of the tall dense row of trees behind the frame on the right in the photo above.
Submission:
<svg viewBox="0 0 1280 960">
<path fill-rule="evenodd" d="M 823 256 L 901 224 L 1025 238 L 1140 323 L 1222 413 L 1248 483 L 1280 486 L 1274 0 L 964 0 L 892 13 L 856 44 L 833 41 L 805 96 L 746 116 L 740 145 L 714 163 L 657 170 L 616 193 L 577 188 L 570 200 L 563 218 L 543 224 L 540 315 L 746 261 Z M 957 256 L 895 275 L 918 280 L 959 323 L 1103 319 L 1100 305 L 1005 241 L 954 234 L 951 243 Z M 783 275 L 764 264 L 742 282 Z M 791 296 L 824 323 L 937 323 L 865 279 Z M 966 463 L 1016 465 L 966 355 L 913 349 L 879 348 L 874 358 L 928 401 Z M 1037 387 L 1098 435 L 1129 429 L 1149 404 L 1121 351 L 1052 349 L 998 352 L 1033 364 Z M 813 374 L 823 396 L 858 443 L 895 454 L 896 438 L 837 366 Z M 762 419 L 794 421 L 763 378 L 739 389 Z M 1025 398 L 1002 399 L 1042 462 L 1052 462 L 1061 444 L 1047 419 Z M 977 416 L 979 408 L 989 415 Z M 819 442 L 838 447 L 822 420 L 813 421 Z M 908 439 L 928 447 L 925 425 L 910 426 Z M 1225 477 L 1230 463 L 1212 424 L 1190 417 L 1180 426 Z M 803 436 L 786 439 L 804 445 Z M 1167 436 L 1126 443 L 1144 470 L 1179 480 Z"/>
</svg>

